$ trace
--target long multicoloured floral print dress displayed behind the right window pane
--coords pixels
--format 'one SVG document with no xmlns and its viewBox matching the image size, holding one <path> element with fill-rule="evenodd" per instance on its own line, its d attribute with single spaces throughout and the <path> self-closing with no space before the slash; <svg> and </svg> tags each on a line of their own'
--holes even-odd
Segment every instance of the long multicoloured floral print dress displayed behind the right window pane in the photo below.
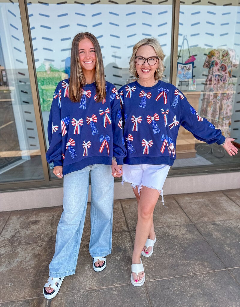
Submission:
<svg viewBox="0 0 240 307">
<path fill-rule="evenodd" d="M 233 81 L 231 55 L 226 49 L 211 50 L 204 68 L 208 68 L 205 81 L 201 116 L 230 137 L 231 115 L 233 108 Z"/>
</svg>

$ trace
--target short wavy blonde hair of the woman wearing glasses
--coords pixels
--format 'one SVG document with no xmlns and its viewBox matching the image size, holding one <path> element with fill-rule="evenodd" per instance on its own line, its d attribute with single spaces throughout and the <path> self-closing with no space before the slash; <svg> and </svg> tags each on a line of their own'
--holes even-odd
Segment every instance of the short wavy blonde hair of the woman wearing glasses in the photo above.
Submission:
<svg viewBox="0 0 240 307">
<path fill-rule="evenodd" d="M 132 56 L 129 62 L 129 72 L 134 76 L 135 79 L 139 78 L 138 73 L 136 72 L 136 62 L 135 62 L 135 56 L 137 53 L 137 49 L 141 46 L 145 46 L 145 45 L 149 45 L 152 46 L 154 51 L 156 52 L 156 55 L 159 58 L 159 64 L 158 64 L 158 72 L 155 71 L 154 73 L 154 78 L 155 80 L 161 80 L 163 77 L 163 72 L 164 72 L 164 66 L 163 66 L 163 59 L 165 57 L 165 54 L 163 53 L 163 49 L 159 44 L 159 41 L 154 38 L 144 38 L 141 41 L 139 41 L 138 43 L 136 43 L 136 45 L 133 47 L 132 49 Z M 149 55 L 149 56 L 152 56 Z"/>
</svg>

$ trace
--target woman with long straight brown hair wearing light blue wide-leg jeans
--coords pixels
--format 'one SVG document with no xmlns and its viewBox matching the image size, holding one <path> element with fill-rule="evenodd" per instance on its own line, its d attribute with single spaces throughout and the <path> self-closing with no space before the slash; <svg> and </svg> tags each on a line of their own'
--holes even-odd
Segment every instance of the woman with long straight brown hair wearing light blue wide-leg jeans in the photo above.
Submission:
<svg viewBox="0 0 240 307">
<path fill-rule="evenodd" d="M 49 149 L 53 173 L 63 181 L 63 212 L 57 226 L 55 254 L 49 264 L 44 297 L 57 295 L 65 276 L 75 274 L 91 176 L 89 253 L 96 272 L 106 267 L 112 249 L 113 177 L 122 174 L 120 99 L 105 81 L 101 49 L 94 35 L 78 33 L 72 42 L 70 78 L 53 94 Z"/>
</svg>

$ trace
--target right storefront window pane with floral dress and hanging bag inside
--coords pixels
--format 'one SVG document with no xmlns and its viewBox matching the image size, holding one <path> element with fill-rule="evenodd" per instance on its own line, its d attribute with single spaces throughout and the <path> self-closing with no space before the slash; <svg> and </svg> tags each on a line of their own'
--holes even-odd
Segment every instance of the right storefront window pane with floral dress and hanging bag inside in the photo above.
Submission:
<svg viewBox="0 0 240 307">
<path fill-rule="evenodd" d="M 240 147 L 239 1 L 184 1 L 180 5 L 177 86 L 201 117 Z M 172 169 L 239 163 L 221 146 L 207 145 L 180 127 Z"/>
</svg>

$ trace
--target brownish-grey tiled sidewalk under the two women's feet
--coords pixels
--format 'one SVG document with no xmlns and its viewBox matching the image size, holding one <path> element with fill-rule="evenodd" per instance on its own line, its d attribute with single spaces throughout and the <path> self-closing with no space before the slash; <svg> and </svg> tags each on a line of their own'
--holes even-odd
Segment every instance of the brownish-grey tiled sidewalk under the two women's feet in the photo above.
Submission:
<svg viewBox="0 0 240 307">
<path fill-rule="evenodd" d="M 159 201 L 154 212 L 154 253 L 142 257 L 144 286 L 130 283 L 136 200 L 116 200 L 106 269 L 92 269 L 88 210 L 77 272 L 52 300 L 42 288 L 62 207 L 0 213 L 0 306 L 239 307 L 240 189 L 164 200 L 168 208 Z"/>
</svg>

